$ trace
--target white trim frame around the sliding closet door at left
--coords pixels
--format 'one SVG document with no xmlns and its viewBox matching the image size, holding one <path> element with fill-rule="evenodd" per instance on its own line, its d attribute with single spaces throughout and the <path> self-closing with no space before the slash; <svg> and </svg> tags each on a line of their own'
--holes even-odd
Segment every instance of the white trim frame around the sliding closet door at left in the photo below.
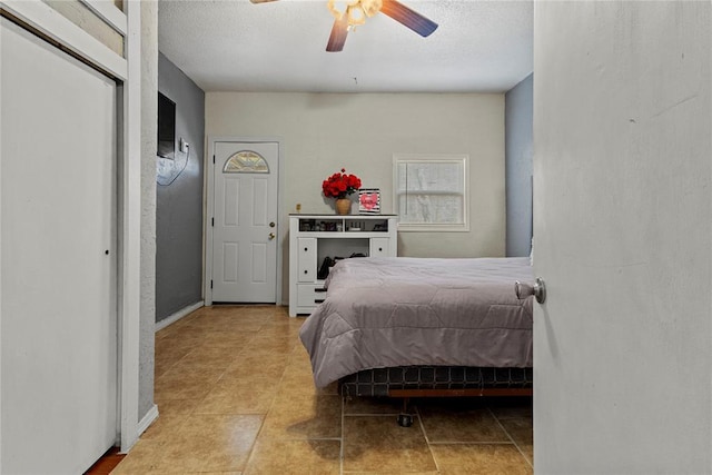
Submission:
<svg viewBox="0 0 712 475">
<path fill-rule="evenodd" d="M 121 170 L 117 217 L 119 220 L 117 226 L 119 248 L 117 435 L 120 438 L 121 452 L 127 452 L 139 436 L 141 6 L 138 0 L 126 0 L 123 12 L 121 12 L 96 0 L 81 1 L 125 37 L 123 57 L 111 51 L 43 2 L 3 0 L 0 7 L 41 34 L 67 47 L 75 56 L 88 61 L 107 76 L 113 77 L 118 87 L 122 89 L 119 98 L 122 103 L 117 105 L 117 109 L 122 111 L 121 117 L 117 118 L 121 138 L 117 154 L 118 167 Z M 2 454 L 0 454 L 1 459 Z M 1 465 L 0 472 L 2 472 Z"/>
</svg>

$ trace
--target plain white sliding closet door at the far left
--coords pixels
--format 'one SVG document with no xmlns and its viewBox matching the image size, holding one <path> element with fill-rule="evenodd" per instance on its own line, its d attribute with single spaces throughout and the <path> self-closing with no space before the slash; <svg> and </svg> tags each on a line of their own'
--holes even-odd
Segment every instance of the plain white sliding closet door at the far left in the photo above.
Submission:
<svg viewBox="0 0 712 475">
<path fill-rule="evenodd" d="M 116 86 L 0 40 L 2 472 L 77 474 L 117 437 Z"/>
</svg>

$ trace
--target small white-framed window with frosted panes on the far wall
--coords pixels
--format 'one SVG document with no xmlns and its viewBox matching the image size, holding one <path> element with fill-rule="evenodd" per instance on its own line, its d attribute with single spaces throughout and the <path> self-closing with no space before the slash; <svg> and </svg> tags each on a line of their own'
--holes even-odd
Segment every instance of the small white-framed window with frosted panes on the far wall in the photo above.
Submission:
<svg viewBox="0 0 712 475">
<path fill-rule="evenodd" d="M 468 231 L 467 155 L 393 156 L 400 231 Z"/>
</svg>

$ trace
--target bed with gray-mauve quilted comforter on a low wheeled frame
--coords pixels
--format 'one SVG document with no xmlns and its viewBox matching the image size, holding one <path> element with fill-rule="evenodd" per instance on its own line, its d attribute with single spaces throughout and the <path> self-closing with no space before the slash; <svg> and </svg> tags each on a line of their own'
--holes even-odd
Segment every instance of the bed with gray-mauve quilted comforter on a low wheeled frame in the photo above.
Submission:
<svg viewBox="0 0 712 475">
<path fill-rule="evenodd" d="M 344 396 L 532 394 L 533 280 L 524 258 L 339 260 L 299 337 L 317 387 Z"/>
</svg>

